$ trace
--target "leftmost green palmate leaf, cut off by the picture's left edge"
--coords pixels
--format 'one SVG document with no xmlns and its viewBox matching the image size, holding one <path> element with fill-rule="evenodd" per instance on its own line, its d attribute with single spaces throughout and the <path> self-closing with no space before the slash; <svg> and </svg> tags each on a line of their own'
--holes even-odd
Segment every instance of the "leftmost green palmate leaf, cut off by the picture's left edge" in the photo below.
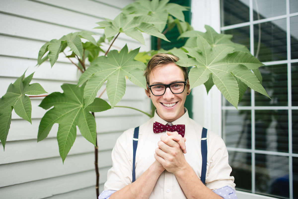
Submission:
<svg viewBox="0 0 298 199">
<path fill-rule="evenodd" d="M 46 93 L 40 84 L 30 84 L 33 74 L 24 78 L 24 73 L 13 84 L 9 85 L 7 92 L 0 99 L 0 140 L 3 149 L 10 128 L 12 110 L 14 109 L 18 116 L 31 123 L 31 101 L 27 95 Z"/>
</svg>

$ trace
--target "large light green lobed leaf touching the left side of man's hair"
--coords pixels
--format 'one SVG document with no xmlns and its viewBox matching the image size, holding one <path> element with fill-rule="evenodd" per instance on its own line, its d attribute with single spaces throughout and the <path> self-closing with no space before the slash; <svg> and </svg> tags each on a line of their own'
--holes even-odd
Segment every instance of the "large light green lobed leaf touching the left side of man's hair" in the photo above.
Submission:
<svg viewBox="0 0 298 199">
<path fill-rule="evenodd" d="M 79 84 L 87 81 L 84 90 L 86 106 L 93 102 L 106 80 L 108 80 L 106 90 L 111 107 L 114 107 L 125 93 L 125 76 L 134 84 L 146 88 L 146 79 L 143 75 L 146 66 L 141 61 L 134 60 L 138 53 L 139 48 L 128 53 L 125 45 L 119 53 L 117 50 L 111 50 L 107 57 L 100 56 L 91 63 L 79 79 Z"/>
</svg>

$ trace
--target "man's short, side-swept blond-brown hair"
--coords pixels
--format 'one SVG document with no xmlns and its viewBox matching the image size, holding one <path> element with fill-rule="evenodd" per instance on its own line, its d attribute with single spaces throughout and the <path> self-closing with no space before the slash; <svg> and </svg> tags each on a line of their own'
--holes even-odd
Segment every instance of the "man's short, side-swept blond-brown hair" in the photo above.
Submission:
<svg viewBox="0 0 298 199">
<path fill-rule="evenodd" d="M 161 66 L 164 66 L 166 64 L 171 64 L 171 63 L 175 64 L 175 62 L 178 60 L 179 60 L 178 57 L 176 57 L 175 55 L 171 55 L 171 54 L 160 53 L 160 54 L 153 55 L 153 57 L 149 60 L 149 62 L 147 64 L 147 68 L 144 73 L 147 83 L 149 84 L 150 73 L 153 72 L 156 69 L 156 67 L 161 67 Z M 183 75 L 184 75 L 184 80 L 186 81 L 188 78 L 187 67 L 181 67 L 181 66 L 178 66 L 178 67 L 182 69 Z"/>
</svg>

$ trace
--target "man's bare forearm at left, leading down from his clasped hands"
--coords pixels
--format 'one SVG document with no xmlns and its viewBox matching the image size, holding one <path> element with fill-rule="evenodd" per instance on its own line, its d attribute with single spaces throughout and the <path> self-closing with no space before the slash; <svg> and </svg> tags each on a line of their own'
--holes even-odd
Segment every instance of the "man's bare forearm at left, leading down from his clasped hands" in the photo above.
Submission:
<svg viewBox="0 0 298 199">
<path fill-rule="evenodd" d="M 161 173 L 162 171 L 157 169 L 156 163 L 153 163 L 134 183 L 128 184 L 119 191 L 113 193 L 109 199 L 147 199 Z"/>
</svg>

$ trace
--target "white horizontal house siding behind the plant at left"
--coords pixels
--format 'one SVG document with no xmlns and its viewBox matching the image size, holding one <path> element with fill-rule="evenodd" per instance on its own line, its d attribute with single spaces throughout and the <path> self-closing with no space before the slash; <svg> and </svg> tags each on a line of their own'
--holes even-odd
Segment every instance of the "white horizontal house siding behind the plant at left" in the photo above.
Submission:
<svg viewBox="0 0 298 199">
<path fill-rule="evenodd" d="M 10 83 L 27 69 L 35 72 L 32 82 L 48 92 L 63 92 L 63 83 L 76 84 L 79 73 L 66 58 L 59 57 L 51 69 L 49 62 L 35 67 L 38 51 L 47 41 L 80 30 L 103 34 L 93 29 L 103 18 L 114 19 L 120 9 L 133 0 L 1 0 L 0 1 L 0 97 Z M 145 38 L 150 50 L 150 37 Z M 119 50 L 125 43 L 129 50 L 139 44 L 123 33 L 114 44 Z M 103 48 L 107 49 L 108 46 Z M 101 93 L 103 89 L 100 90 Z M 108 100 L 104 94 L 103 99 Z M 32 125 L 13 111 L 5 151 L 0 150 L 0 198 L 96 198 L 94 146 L 77 132 L 77 138 L 64 164 L 56 139 L 58 124 L 48 137 L 37 142 L 39 122 L 46 110 L 38 107 L 41 98 L 31 98 Z M 127 81 L 126 94 L 118 105 L 149 112 L 145 92 Z M 111 150 L 119 135 L 148 119 L 132 109 L 114 108 L 96 113 L 99 146 L 100 191 L 111 167 Z"/>
</svg>

